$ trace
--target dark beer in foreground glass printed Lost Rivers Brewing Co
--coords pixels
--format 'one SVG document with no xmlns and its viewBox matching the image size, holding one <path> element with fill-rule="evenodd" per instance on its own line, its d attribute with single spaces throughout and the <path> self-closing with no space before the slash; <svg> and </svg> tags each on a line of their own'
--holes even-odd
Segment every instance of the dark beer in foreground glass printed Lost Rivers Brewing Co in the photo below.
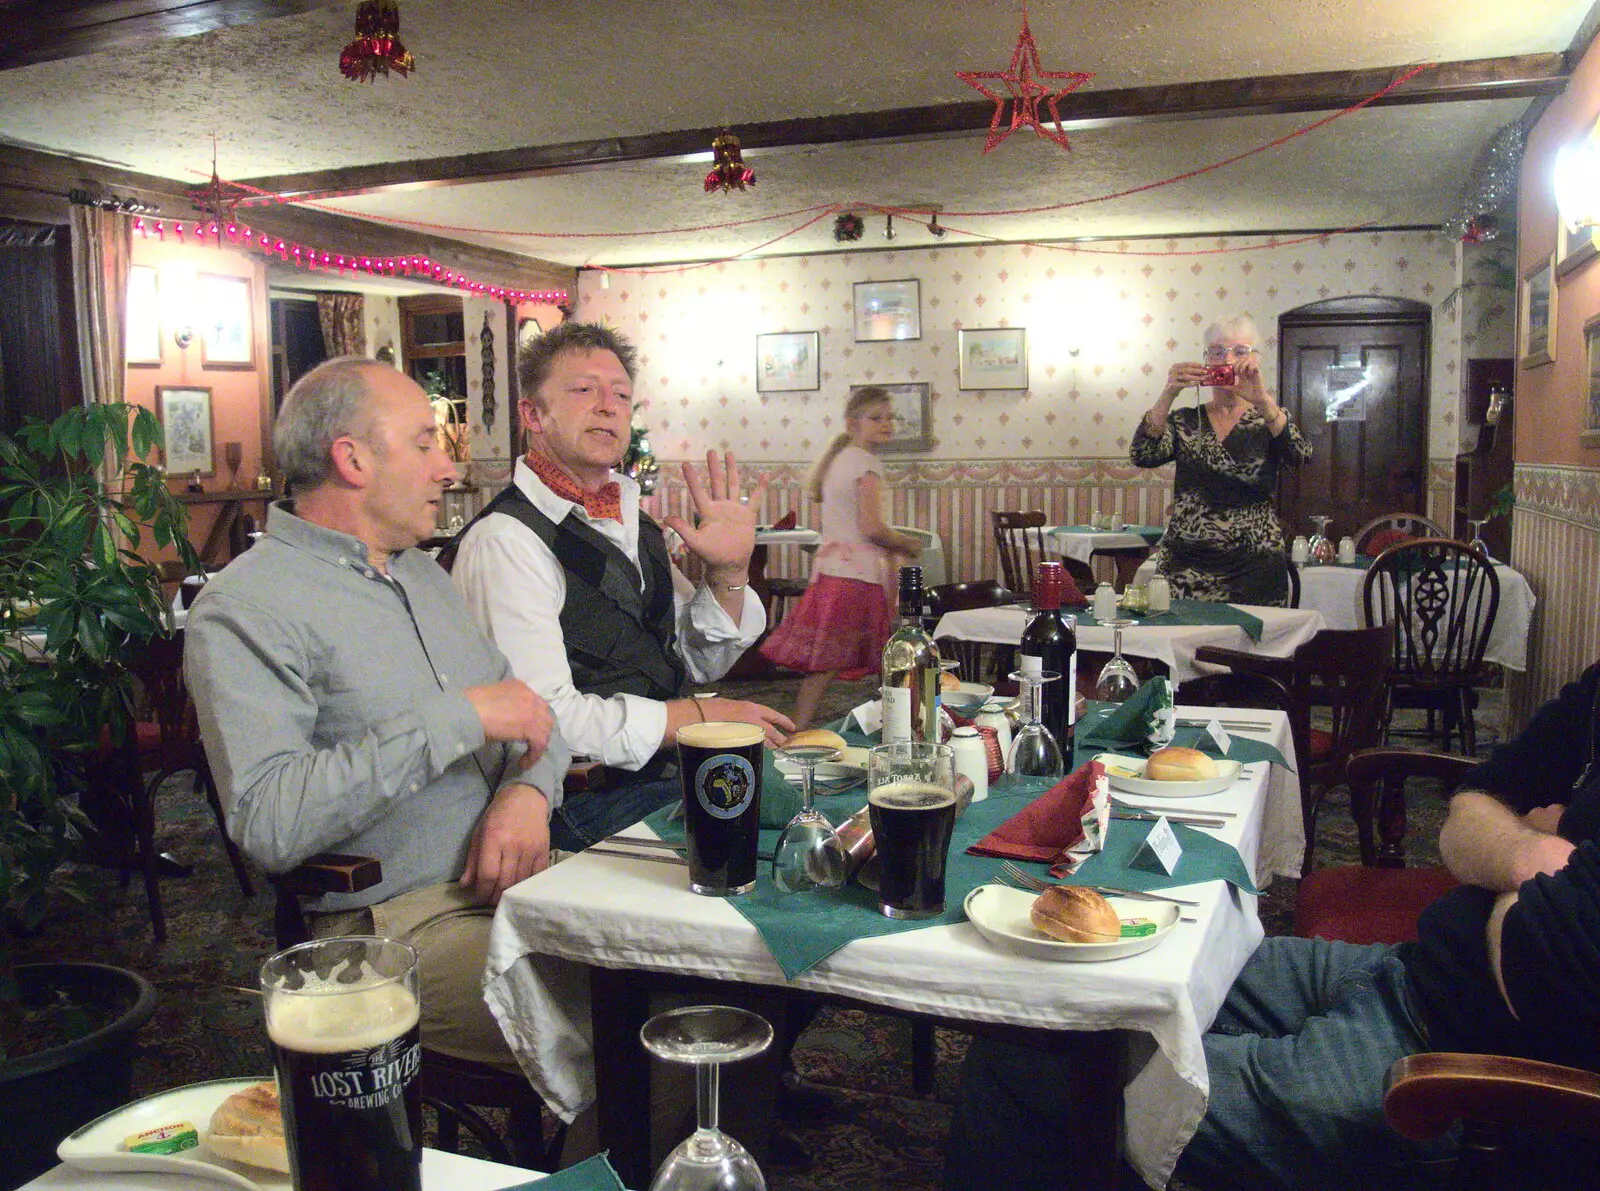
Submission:
<svg viewBox="0 0 1600 1191">
<path fill-rule="evenodd" d="M 294 1191 L 421 1191 L 416 951 L 325 938 L 261 965 Z"/>
</svg>

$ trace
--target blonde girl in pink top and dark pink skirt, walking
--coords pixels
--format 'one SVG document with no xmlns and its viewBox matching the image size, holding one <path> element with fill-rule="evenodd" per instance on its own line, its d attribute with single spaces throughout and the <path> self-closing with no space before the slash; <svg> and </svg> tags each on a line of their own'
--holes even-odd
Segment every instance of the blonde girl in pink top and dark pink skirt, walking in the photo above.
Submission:
<svg viewBox="0 0 1600 1191">
<path fill-rule="evenodd" d="M 922 552 L 920 541 L 883 520 L 883 467 L 874 451 L 893 437 L 888 392 L 862 386 L 845 407 L 845 432 L 806 480 L 811 499 L 822 504 L 822 547 L 800 604 L 762 644 L 763 658 L 805 674 L 795 728 L 810 727 L 835 677 L 853 682 L 877 672 L 894 631 L 888 592 L 898 555 Z"/>
</svg>

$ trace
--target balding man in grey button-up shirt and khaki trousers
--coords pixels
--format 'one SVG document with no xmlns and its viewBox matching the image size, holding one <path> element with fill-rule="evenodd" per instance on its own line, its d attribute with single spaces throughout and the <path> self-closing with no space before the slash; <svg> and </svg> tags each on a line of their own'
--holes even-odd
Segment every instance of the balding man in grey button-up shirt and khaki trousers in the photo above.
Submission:
<svg viewBox="0 0 1600 1191">
<path fill-rule="evenodd" d="M 456 479 L 422 391 L 330 360 L 291 389 L 275 448 L 296 501 L 186 632 L 229 834 L 270 872 L 330 850 L 382 861 L 379 885 L 314 903 L 312 932 L 416 946 L 424 1045 L 517 1069 L 482 996 L 490 917 L 549 861 L 570 756 L 414 549 Z"/>
</svg>

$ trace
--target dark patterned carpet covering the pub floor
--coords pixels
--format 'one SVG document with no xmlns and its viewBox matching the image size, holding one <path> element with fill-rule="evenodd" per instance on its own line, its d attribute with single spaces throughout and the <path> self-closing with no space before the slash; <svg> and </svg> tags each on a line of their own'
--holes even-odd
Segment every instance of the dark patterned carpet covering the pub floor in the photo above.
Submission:
<svg viewBox="0 0 1600 1191">
<path fill-rule="evenodd" d="M 794 680 L 723 682 L 720 693 L 787 711 Z M 822 708 L 840 716 L 870 696 L 870 684 L 835 684 Z M 1486 692 L 1478 712 L 1478 740 L 1498 740 L 1499 692 Z M 1405 744 L 1405 738 L 1397 741 Z M 1421 741 L 1416 741 L 1421 748 Z M 1416 861 L 1434 858 L 1443 802 L 1424 799 L 1414 808 Z M 224 1076 L 266 1073 L 261 1007 L 250 989 L 272 948 L 270 898 L 266 882 L 246 898 L 232 879 L 216 826 L 187 778 L 166 784 L 160 797 L 158 844 L 195 866 L 187 879 L 162 882 L 170 940 L 150 943 L 142 885 L 118 885 L 104 869 L 80 871 L 83 906 L 64 904 L 45 930 L 22 946 L 22 959 L 93 959 L 144 973 L 162 994 L 154 1021 L 141 1036 L 134 1090 Z M 1318 863 L 1355 858 L 1354 828 L 1334 799 L 1318 832 Z M 1275 882 L 1261 906 L 1269 933 L 1283 933 L 1293 917 L 1294 882 Z M 963 1036 L 939 1031 L 938 1082 L 930 1098 L 910 1087 L 910 1029 L 904 1020 L 824 1010 L 795 1049 L 800 1073 L 835 1093 L 837 1111 L 821 1125 L 795 1132 L 810 1148 L 810 1170 L 771 1167 L 773 1191 L 933 1191 L 939 1186 L 942 1145 L 955 1100 Z"/>
</svg>

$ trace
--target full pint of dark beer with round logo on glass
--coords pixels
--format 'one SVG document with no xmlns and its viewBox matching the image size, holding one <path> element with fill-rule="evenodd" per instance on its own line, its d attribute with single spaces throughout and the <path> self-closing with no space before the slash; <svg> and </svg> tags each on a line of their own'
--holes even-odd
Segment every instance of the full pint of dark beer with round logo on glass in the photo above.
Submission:
<svg viewBox="0 0 1600 1191">
<path fill-rule="evenodd" d="M 766 733 L 754 724 L 678 728 L 690 888 L 722 896 L 755 888 Z"/>
</svg>

